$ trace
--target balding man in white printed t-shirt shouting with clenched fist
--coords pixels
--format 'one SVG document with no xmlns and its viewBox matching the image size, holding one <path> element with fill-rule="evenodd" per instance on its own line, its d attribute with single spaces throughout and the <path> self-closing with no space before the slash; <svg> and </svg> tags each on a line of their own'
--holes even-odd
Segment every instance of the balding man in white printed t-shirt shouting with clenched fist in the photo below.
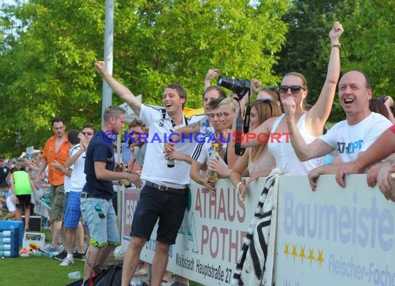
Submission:
<svg viewBox="0 0 395 286">
<path fill-rule="evenodd" d="M 371 83 L 366 74 L 347 72 L 340 78 L 339 101 L 346 120 L 335 124 L 325 135 L 306 144 L 295 124 L 295 100 L 288 96 L 282 101 L 291 143 L 299 160 L 306 161 L 326 154 L 339 155 L 340 162 L 356 160 L 368 147 L 392 125 L 383 115 L 369 110 Z M 323 165 L 308 173 L 310 185 L 315 191 L 319 175 L 336 174 L 341 165 Z"/>
</svg>

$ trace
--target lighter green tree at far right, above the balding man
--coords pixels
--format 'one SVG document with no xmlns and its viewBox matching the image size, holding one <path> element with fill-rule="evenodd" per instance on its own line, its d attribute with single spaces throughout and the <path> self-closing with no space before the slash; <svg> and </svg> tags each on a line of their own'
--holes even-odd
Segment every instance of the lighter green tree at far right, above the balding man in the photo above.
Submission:
<svg viewBox="0 0 395 286">
<path fill-rule="evenodd" d="M 395 2 L 356 1 L 346 16 L 344 70 L 357 69 L 371 78 L 374 97 L 394 94 Z"/>
</svg>

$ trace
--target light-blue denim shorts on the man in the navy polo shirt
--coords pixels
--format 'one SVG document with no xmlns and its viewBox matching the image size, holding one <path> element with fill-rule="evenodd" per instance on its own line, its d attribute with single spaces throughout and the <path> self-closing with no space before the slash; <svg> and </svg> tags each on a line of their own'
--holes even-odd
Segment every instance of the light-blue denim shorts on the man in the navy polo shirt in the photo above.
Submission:
<svg viewBox="0 0 395 286">
<path fill-rule="evenodd" d="M 105 214 L 103 219 L 99 217 L 99 212 L 95 209 L 96 205 L 100 205 L 100 209 Z M 81 198 L 81 212 L 84 221 L 88 224 L 91 245 L 100 248 L 107 246 L 107 244 L 119 245 L 116 214 L 111 200 Z"/>
</svg>

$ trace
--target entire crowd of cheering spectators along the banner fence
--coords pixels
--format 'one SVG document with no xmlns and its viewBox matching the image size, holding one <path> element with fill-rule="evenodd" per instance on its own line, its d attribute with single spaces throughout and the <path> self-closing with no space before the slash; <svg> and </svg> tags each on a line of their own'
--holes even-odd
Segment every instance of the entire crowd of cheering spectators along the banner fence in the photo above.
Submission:
<svg viewBox="0 0 395 286">
<path fill-rule="evenodd" d="M 82 246 L 76 253 L 72 250 L 76 241 L 75 230 L 69 231 L 73 235 L 72 239 L 67 239 L 66 249 L 62 246 L 66 241 L 64 224 L 67 228 L 76 228 L 78 221 L 82 220 L 82 211 L 87 226 L 85 234 L 91 235 L 84 277 L 85 283 L 89 283 L 92 269 L 102 264 L 112 247 L 119 244 L 116 209 L 111 203 L 115 199 L 112 181 L 118 181 L 125 187 L 143 185 L 132 221 L 131 242 L 125 253 L 122 285 L 129 285 L 135 274 L 147 274 L 149 265 L 142 266 L 139 256 L 159 220 L 150 282 L 158 286 L 166 278 L 166 283 L 162 285 L 177 286 L 188 285 L 188 279 L 181 276 L 172 278 L 166 272 L 167 253 L 170 245 L 175 243 L 186 212 L 191 179 L 216 196 L 216 181 L 207 176 L 209 172 L 215 172 L 219 178 L 230 178 L 244 199 L 251 191 L 247 188 L 248 184 L 258 177 L 267 176 L 274 168 L 287 174 L 307 175 L 313 191 L 317 189 L 321 174 L 337 174 L 337 182 L 344 186 L 345 174 L 367 171 L 368 184 L 374 186 L 378 183 L 385 198 L 395 201 L 395 183 L 392 179 L 395 159 L 391 157 L 395 144 L 383 147 L 385 139 L 395 141 L 395 128 L 390 128 L 395 121 L 394 101 L 391 96 L 374 99 L 369 77 L 362 72 L 346 72 L 340 78 L 342 33 L 342 25 L 336 22 L 329 33 L 331 54 L 326 81 L 317 101 L 308 108 L 308 85 L 302 74 L 286 74 L 279 87 L 261 87 L 261 83 L 253 78 L 248 96 L 234 93 L 232 89 L 226 96 L 226 90 L 211 85 L 211 80 L 220 76 L 220 70 L 210 69 L 204 81 L 202 115 L 186 117 L 183 108 L 187 95 L 181 85 L 165 87 L 163 107 L 148 106 L 138 101 L 128 87 L 109 75 L 104 62 L 96 62 L 98 73 L 139 117 L 128 125 L 132 140 L 123 142 L 120 158 L 115 157 L 114 146 L 109 143 L 111 138 L 108 138 L 109 142 L 103 140 L 107 131 L 118 134 L 125 122 L 125 112 L 114 106 L 107 108 L 105 122 L 96 135 L 94 128 L 89 126 L 82 128 L 81 133 L 77 130 L 76 134 L 67 135 L 62 119 L 55 119 L 52 121 L 55 135 L 46 142 L 44 152 L 21 154 L 17 159 L 0 157 L 3 219 L 20 219 L 22 212 L 27 218 L 30 208 L 39 203 L 39 196 L 47 190 L 46 183 L 49 181 L 53 241 L 47 250 L 63 253 L 63 256 L 60 255 L 63 266 L 73 264 L 73 257 L 82 258 L 85 251 Z M 337 85 L 346 119 L 323 135 Z M 254 97 L 256 100 L 250 106 L 249 100 L 254 94 L 257 94 Z M 268 140 L 266 144 L 255 136 L 236 146 L 235 131 L 240 131 L 240 118 L 247 117 L 249 134 L 280 135 L 278 140 Z M 146 143 L 140 136 L 146 133 L 147 136 L 143 136 L 146 140 L 154 135 L 164 138 L 163 135 L 175 131 L 179 137 L 175 136 L 168 142 Z M 198 133 L 200 140 L 196 142 L 179 140 L 181 135 Z M 287 134 L 291 134 L 290 141 L 286 138 Z M 75 142 L 72 142 L 72 137 L 77 138 Z M 246 151 L 243 153 L 244 149 Z M 324 165 L 324 156 L 336 159 Z M 83 158 L 82 162 L 78 158 Z M 168 165 L 168 160 L 174 160 L 175 165 Z M 116 162 L 123 167 L 114 171 Z M 79 176 L 79 187 L 70 186 L 68 180 L 76 172 L 81 175 L 82 165 L 85 166 L 86 178 Z M 20 173 L 17 173 L 18 176 L 12 175 L 14 168 L 17 172 L 28 172 L 24 176 L 24 185 L 30 185 L 30 188 L 24 189 L 23 197 L 18 193 L 20 184 L 15 185 L 15 178 L 20 180 Z M 243 176 L 249 179 L 245 181 Z M 39 190 L 37 194 L 36 188 Z M 70 195 L 64 195 L 64 192 L 70 191 Z M 70 215 L 67 205 L 71 201 L 73 205 L 78 205 L 73 210 L 76 218 L 72 219 L 72 223 L 70 219 L 64 220 L 65 214 L 66 217 Z M 28 221 L 25 227 L 28 230 Z"/>
</svg>

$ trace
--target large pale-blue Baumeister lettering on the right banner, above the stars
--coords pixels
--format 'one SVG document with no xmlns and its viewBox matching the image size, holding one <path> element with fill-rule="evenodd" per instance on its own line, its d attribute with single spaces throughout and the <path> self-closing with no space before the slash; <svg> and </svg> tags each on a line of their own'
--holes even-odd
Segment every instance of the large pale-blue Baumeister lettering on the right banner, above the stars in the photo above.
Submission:
<svg viewBox="0 0 395 286">
<path fill-rule="evenodd" d="M 394 217 L 387 209 L 378 209 L 371 199 L 370 208 L 357 205 L 358 194 L 353 194 L 353 205 L 295 202 L 292 192 L 285 193 L 284 231 L 299 237 L 352 243 L 371 249 L 380 246 L 383 251 L 394 247 Z"/>
</svg>

